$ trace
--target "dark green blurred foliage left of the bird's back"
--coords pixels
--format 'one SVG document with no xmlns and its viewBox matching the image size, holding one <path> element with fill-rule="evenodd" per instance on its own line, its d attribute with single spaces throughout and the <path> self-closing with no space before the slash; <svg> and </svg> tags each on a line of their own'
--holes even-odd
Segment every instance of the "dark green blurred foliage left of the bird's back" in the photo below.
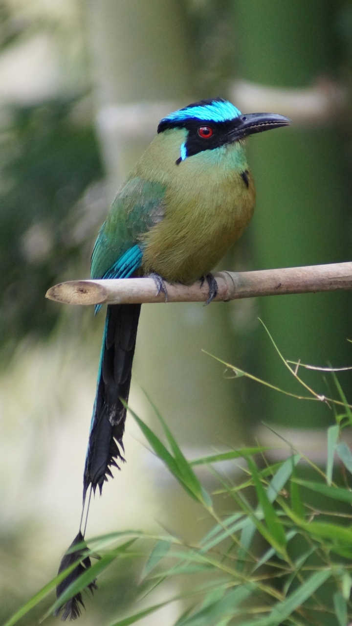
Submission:
<svg viewBox="0 0 352 626">
<path fill-rule="evenodd" d="M 76 204 L 102 177 L 93 125 L 76 123 L 78 98 L 14 106 L 0 132 L 0 345 L 46 336 L 59 307 L 44 300 L 70 275 L 82 242 Z"/>
</svg>

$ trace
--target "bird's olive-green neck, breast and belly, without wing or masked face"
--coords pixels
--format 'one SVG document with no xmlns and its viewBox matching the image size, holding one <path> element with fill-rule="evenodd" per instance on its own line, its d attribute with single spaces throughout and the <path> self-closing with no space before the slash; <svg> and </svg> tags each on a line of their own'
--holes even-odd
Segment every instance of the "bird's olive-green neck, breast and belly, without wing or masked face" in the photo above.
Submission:
<svg viewBox="0 0 352 626">
<path fill-rule="evenodd" d="M 158 135 L 131 175 L 166 185 L 163 220 L 143 235 L 143 273 L 192 284 L 241 236 L 256 193 L 241 143 L 205 150 L 175 165 L 182 134 Z M 247 181 L 241 176 L 246 171 Z"/>
</svg>

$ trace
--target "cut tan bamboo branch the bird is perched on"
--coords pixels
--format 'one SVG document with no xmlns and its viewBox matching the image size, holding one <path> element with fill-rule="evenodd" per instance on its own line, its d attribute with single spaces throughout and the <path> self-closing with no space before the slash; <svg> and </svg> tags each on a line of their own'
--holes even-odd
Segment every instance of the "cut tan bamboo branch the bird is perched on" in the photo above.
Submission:
<svg viewBox="0 0 352 626">
<path fill-rule="evenodd" d="M 259 295 L 306 294 L 318 291 L 352 289 L 352 262 L 308 267 L 284 267 L 257 272 L 219 272 L 215 274 L 218 293 L 215 300 L 236 300 Z M 208 285 L 200 281 L 193 285 L 167 287 L 167 302 L 205 302 Z M 46 298 L 63 304 L 138 304 L 165 302 L 157 295 L 151 278 L 71 280 L 54 285 Z"/>
</svg>

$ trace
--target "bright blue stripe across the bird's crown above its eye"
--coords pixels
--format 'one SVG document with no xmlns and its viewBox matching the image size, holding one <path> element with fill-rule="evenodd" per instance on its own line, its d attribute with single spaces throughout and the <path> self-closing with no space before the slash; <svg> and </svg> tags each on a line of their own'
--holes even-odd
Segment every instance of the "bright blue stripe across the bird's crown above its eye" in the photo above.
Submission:
<svg viewBox="0 0 352 626">
<path fill-rule="evenodd" d="M 173 113 L 163 118 L 160 123 L 182 122 L 190 119 L 220 122 L 234 120 L 240 115 L 241 111 L 229 101 L 214 100 L 209 105 L 187 106 L 179 111 L 173 111 Z"/>
</svg>

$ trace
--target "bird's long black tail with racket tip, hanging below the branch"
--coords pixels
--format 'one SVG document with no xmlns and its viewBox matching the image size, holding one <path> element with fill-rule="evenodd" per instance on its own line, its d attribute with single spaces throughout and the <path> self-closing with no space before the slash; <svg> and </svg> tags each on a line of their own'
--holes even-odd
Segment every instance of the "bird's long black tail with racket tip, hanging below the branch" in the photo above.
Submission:
<svg viewBox="0 0 352 626">
<path fill-rule="evenodd" d="M 106 312 L 98 384 L 83 476 L 83 507 L 88 487 L 91 485 L 91 489 L 95 492 L 98 486 L 101 493 L 103 483 L 108 480 L 108 476 L 112 476 L 111 466 L 118 467 L 116 460 L 124 460 L 122 437 L 125 430 L 126 409 L 122 400 L 127 403 L 130 392 L 140 307 L 140 304 L 113 304 L 108 306 Z M 84 535 L 85 529 L 83 534 L 80 529 L 80 533 L 70 548 L 79 545 L 84 540 Z M 71 563 L 80 560 L 81 555 L 82 543 L 80 550 L 70 552 L 70 555 L 63 557 L 59 573 Z M 89 558 L 83 560 L 83 566 L 73 570 L 56 588 L 58 598 L 80 576 L 84 568 L 90 567 Z M 93 589 L 96 588 L 95 581 L 90 583 L 88 588 L 93 593 Z M 80 616 L 80 604 L 84 607 L 81 593 L 78 593 L 60 607 L 55 615 L 63 610 L 62 620 L 67 618 L 74 620 Z"/>
</svg>

